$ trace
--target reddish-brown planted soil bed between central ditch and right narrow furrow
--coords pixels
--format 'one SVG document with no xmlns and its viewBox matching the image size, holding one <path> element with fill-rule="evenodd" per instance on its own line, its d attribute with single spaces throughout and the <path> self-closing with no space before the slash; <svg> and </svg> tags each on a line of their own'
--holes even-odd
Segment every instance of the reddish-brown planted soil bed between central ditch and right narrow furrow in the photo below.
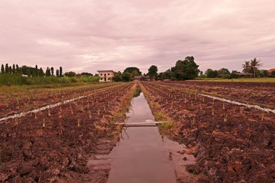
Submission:
<svg viewBox="0 0 275 183">
<path fill-rule="evenodd" d="M 275 182 L 275 114 L 167 85 L 142 82 L 147 99 L 174 121 L 166 134 L 195 156 L 188 170 L 197 182 Z"/>
</svg>

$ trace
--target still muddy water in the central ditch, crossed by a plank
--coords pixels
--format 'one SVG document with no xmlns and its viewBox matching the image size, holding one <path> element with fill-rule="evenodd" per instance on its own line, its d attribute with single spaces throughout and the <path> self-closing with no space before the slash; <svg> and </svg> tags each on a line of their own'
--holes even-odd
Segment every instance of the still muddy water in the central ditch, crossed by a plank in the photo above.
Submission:
<svg viewBox="0 0 275 183">
<path fill-rule="evenodd" d="M 143 93 L 133 98 L 126 123 L 154 121 Z M 111 151 L 110 183 L 176 182 L 173 164 L 168 158 L 157 127 L 128 127 L 117 147 Z"/>
</svg>

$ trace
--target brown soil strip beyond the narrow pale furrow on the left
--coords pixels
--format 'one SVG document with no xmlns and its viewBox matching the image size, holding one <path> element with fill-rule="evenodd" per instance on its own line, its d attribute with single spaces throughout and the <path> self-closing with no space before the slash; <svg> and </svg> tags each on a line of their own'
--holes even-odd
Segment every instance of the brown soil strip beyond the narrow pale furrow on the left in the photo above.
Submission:
<svg viewBox="0 0 275 183">
<path fill-rule="evenodd" d="M 72 99 L 82 95 L 90 94 L 99 88 L 107 88 L 112 85 L 95 85 L 83 88 L 62 88 L 56 89 L 37 89 L 18 93 L 1 93 L 0 95 L 0 118 L 20 112 L 33 110 L 50 103 L 58 103 L 65 99 Z"/>
</svg>

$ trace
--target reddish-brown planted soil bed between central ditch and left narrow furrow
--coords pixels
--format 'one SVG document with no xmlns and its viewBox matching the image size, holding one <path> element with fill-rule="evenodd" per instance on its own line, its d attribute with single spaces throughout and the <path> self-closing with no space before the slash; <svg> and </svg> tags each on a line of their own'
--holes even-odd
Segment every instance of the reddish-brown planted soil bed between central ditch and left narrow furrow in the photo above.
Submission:
<svg viewBox="0 0 275 183">
<path fill-rule="evenodd" d="M 132 83 L 121 84 L 87 99 L 1 124 L 0 182 L 107 180 L 109 171 L 90 169 L 87 162 L 96 158 L 93 154 L 102 146 L 102 138 L 109 141 L 103 143 L 105 149 L 111 151 L 115 146 L 119 129 L 109 121 L 130 101 L 132 90 Z"/>
</svg>

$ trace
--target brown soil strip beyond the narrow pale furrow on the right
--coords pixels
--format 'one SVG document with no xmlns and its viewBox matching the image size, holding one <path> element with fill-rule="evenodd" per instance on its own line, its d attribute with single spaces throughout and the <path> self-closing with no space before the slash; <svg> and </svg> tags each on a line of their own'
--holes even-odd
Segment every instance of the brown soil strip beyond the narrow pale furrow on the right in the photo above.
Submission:
<svg viewBox="0 0 275 183">
<path fill-rule="evenodd" d="M 160 82 L 199 93 L 275 109 L 275 84 L 252 82 Z"/>
</svg>

